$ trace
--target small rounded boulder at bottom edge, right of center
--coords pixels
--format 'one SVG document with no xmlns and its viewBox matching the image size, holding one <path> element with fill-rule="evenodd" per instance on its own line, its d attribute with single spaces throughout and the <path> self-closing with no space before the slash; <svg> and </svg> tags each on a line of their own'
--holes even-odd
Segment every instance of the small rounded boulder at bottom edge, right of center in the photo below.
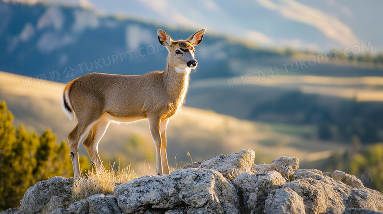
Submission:
<svg viewBox="0 0 383 214">
<path fill-rule="evenodd" d="M 302 214 L 304 213 L 303 199 L 290 188 L 273 191 L 265 201 L 266 214 Z"/>
</svg>

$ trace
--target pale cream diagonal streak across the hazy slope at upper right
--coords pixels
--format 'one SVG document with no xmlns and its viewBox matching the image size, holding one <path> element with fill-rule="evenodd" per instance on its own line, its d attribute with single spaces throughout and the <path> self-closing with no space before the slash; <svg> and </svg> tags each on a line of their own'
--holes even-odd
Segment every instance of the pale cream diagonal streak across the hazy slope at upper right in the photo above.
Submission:
<svg viewBox="0 0 383 214">
<path fill-rule="evenodd" d="M 256 0 L 262 6 L 280 12 L 286 18 L 319 29 L 328 38 L 343 46 L 359 44 L 352 29 L 337 18 L 322 11 L 303 5 L 296 0 Z"/>
</svg>

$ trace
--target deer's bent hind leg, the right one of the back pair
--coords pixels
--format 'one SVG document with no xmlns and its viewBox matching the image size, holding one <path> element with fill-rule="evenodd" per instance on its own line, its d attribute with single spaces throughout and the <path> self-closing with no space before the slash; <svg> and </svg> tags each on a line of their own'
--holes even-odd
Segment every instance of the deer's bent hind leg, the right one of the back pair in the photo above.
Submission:
<svg viewBox="0 0 383 214">
<path fill-rule="evenodd" d="M 107 131 L 108 126 L 109 120 L 101 118 L 90 128 L 88 135 L 82 142 L 96 170 L 105 169 L 100 159 L 100 156 L 98 155 L 98 143 L 100 143 L 100 140 Z"/>
</svg>

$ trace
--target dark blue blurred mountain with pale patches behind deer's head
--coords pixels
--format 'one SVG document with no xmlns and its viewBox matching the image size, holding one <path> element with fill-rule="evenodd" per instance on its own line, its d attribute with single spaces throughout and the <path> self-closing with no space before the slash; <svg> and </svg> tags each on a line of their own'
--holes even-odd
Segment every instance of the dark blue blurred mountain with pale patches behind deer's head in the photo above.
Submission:
<svg viewBox="0 0 383 214">
<path fill-rule="evenodd" d="M 88 72 L 163 70 L 167 50 L 158 43 L 157 29 L 163 28 L 174 40 L 195 32 L 103 17 L 81 7 L 0 1 L 0 10 L 0 70 L 57 82 L 69 82 Z M 196 79 L 238 75 L 257 62 L 264 64 L 265 57 L 283 59 L 275 50 L 249 48 L 209 33 L 197 52 Z"/>
</svg>

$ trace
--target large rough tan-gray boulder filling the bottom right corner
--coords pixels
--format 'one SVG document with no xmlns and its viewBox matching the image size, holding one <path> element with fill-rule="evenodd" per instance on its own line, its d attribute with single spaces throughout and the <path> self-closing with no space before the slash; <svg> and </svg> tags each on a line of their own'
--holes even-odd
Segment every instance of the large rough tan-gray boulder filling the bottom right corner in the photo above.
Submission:
<svg viewBox="0 0 383 214">
<path fill-rule="evenodd" d="M 304 178 L 283 185 L 298 193 L 303 199 L 306 214 L 340 214 L 347 209 L 363 208 L 382 211 L 383 195 L 364 187 L 352 188 L 340 181 L 321 176 L 313 171 L 303 171 Z"/>
</svg>

